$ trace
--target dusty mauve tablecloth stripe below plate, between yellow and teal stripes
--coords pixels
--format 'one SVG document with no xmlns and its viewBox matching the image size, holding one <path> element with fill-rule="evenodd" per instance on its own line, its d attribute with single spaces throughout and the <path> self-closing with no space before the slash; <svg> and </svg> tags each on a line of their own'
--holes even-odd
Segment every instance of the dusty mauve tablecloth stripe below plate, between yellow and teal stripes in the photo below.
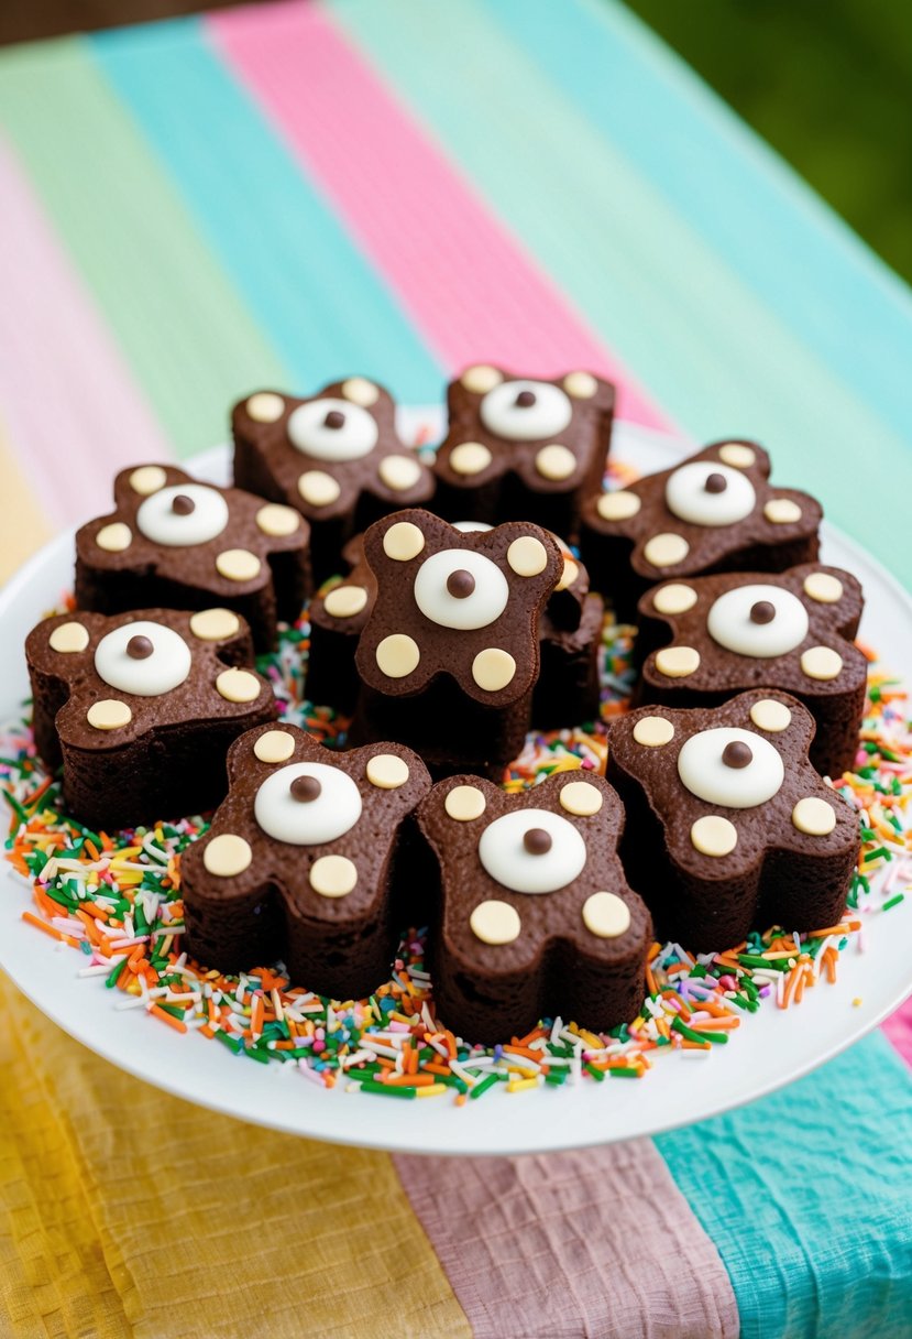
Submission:
<svg viewBox="0 0 912 1339">
<path fill-rule="evenodd" d="M 651 1139 L 394 1161 L 476 1339 L 737 1339 L 725 1265 Z"/>
</svg>

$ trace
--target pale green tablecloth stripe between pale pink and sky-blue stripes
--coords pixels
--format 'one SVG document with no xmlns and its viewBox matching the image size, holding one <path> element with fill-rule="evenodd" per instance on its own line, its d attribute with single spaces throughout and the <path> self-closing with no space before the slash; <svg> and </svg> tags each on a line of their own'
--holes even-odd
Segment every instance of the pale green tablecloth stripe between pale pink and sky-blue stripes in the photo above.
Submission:
<svg viewBox="0 0 912 1339">
<path fill-rule="evenodd" d="M 87 43 L 4 51 L 0 122 L 177 453 L 223 441 L 230 402 L 288 370 Z"/>
</svg>

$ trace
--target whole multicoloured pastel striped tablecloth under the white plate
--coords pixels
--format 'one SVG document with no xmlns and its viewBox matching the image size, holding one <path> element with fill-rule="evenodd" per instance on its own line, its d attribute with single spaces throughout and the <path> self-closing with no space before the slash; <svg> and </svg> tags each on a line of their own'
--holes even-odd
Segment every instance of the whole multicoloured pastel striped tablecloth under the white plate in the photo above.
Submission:
<svg viewBox="0 0 912 1339">
<path fill-rule="evenodd" d="M 489 359 L 761 439 L 912 574 L 908 292 L 616 3 L 293 3 L 8 50 L 0 127 L 7 572 L 261 383 L 423 403 Z M 4 1334 L 912 1332 L 908 1012 L 699 1126 L 448 1162 L 203 1114 L 0 1004 Z"/>
</svg>

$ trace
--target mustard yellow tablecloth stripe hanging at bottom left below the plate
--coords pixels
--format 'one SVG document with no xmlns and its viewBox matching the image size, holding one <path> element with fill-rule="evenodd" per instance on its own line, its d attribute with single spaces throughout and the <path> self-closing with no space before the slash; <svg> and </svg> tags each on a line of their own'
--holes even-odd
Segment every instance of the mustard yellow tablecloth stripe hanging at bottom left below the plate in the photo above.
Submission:
<svg viewBox="0 0 912 1339">
<path fill-rule="evenodd" d="M 0 1007 L 4 1334 L 471 1339 L 388 1154 L 167 1097 L 8 981 Z"/>
</svg>

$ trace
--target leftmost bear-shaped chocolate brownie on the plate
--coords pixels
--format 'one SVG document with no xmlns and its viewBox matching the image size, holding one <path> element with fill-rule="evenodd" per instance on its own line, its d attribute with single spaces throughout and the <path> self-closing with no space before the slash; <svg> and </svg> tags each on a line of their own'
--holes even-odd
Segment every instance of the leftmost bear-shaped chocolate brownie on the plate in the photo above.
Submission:
<svg viewBox="0 0 912 1339">
<path fill-rule="evenodd" d="M 225 751 L 275 718 L 231 609 L 142 609 L 45 619 L 25 640 L 35 744 L 63 763 L 66 811 L 118 828 L 211 809 Z"/>
</svg>

